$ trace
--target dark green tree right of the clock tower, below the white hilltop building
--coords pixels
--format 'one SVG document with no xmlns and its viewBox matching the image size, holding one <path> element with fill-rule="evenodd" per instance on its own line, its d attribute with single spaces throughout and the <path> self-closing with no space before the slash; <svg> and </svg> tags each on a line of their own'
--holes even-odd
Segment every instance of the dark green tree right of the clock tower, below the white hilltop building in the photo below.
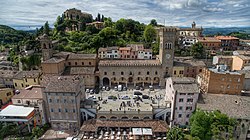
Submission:
<svg viewBox="0 0 250 140">
<path fill-rule="evenodd" d="M 195 43 L 195 44 L 192 45 L 192 47 L 191 47 L 191 55 L 194 58 L 198 58 L 198 59 L 204 58 L 204 54 L 205 54 L 205 49 L 204 49 L 203 45 L 200 42 Z"/>
</svg>

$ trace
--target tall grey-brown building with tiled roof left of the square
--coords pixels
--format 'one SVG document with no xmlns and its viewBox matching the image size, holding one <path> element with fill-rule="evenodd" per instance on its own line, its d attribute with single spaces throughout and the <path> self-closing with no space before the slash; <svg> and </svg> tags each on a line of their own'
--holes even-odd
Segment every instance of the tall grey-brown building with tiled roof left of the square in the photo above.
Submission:
<svg viewBox="0 0 250 140">
<path fill-rule="evenodd" d="M 80 101 L 85 99 L 83 79 L 77 76 L 44 76 L 43 100 L 53 129 L 75 130 L 82 123 Z"/>
</svg>

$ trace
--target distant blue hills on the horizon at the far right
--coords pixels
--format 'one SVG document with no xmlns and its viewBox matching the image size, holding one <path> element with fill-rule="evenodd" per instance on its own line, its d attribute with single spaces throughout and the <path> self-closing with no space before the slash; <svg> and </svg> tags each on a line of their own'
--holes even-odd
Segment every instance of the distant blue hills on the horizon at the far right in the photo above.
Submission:
<svg viewBox="0 0 250 140">
<path fill-rule="evenodd" d="M 230 27 L 230 28 L 204 28 L 204 35 L 228 35 L 232 32 L 239 32 L 250 35 L 250 27 Z"/>
</svg>

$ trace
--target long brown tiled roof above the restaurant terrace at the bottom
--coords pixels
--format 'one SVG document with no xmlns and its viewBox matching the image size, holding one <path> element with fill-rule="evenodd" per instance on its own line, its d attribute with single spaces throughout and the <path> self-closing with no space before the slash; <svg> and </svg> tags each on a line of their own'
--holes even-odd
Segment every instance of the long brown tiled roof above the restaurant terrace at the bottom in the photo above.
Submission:
<svg viewBox="0 0 250 140">
<path fill-rule="evenodd" d="M 136 127 L 136 128 L 152 128 L 153 132 L 167 132 L 169 126 L 162 120 L 88 120 L 81 127 L 81 131 L 96 132 L 98 127 Z"/>
</svg>

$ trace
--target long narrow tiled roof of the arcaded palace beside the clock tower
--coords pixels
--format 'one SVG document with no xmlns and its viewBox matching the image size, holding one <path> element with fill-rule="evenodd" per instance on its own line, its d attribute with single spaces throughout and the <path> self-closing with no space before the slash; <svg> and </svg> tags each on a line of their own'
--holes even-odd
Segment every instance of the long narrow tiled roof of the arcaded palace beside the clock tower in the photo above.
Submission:
<svg viewBox="0 0 250 140">
<path fill-rule="evenodd" d="M 161 66 L 160 60 L 100 60 L 99 66 Z"/>
</svg>

